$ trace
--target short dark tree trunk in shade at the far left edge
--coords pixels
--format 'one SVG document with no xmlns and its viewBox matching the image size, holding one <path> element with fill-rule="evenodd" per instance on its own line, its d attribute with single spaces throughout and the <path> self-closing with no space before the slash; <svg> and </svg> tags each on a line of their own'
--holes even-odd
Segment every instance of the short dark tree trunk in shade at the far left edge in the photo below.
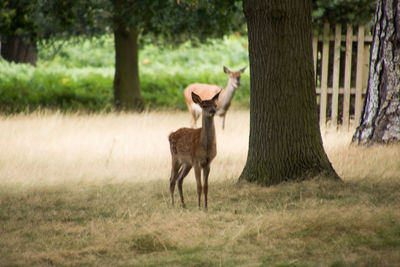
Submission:
<svg viewBox="0 0 400 267">
<path fill-rule="evenodd" d="M 1 56 L 15 63 L 29 63 L 36 66 L 36 43 L 20 36 L 8 36 L 1 43 Z"/>
</svg>

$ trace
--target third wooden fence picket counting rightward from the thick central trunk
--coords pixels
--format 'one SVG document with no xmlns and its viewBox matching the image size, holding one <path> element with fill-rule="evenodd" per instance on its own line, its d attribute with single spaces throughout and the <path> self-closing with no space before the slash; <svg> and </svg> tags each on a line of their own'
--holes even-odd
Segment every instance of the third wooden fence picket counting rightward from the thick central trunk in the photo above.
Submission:
<svg viewBox="0 0 400 267">
<path fill-rule="evenodd" d="M 342 25 L 335 27 L 335 49 L 333 56 L 333 83 L 332 83 L 332 107 L 331 122 L 332 127 L 337 128 L 338 103 L 339 103 L 339 71 L 340 71 L 340 46 L 342 43 Z"/>
</svg>

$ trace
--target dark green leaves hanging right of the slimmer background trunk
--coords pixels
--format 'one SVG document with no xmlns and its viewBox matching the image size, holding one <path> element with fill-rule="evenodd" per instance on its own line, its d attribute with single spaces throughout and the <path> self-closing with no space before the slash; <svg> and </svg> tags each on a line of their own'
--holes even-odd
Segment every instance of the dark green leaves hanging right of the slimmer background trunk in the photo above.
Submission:
<svg viewBox="0 0 400 267">
<path fill-rule="evenodd" d="M 127 5 L 129 5 L 130 1 Z M 241 1 L 159 0 L 133 1 L 134 15 L 127 14 L 130 25 L 142 34 L 159 37 L 168 43 L 182 43 L 187 39 L 205 41 L 222 37 L 242 29 L 245 24 Z M 126 7 L 124 8 L 126 10 Z M 120 12 L 117 12 L 118 16 Z M 152 38 L 154 39 L 154 38 Z"/>
</svg>

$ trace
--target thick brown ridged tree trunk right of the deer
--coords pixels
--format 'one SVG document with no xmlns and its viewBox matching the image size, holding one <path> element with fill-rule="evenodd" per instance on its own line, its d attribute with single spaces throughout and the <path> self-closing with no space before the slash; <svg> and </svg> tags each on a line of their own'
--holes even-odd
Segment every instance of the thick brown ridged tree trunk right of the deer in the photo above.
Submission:
<svg viewBox="0 0 400 267">
<path fill-rule="evenodd" d="M 312 60 L 311 1 L 244 0 L 250 137 L 239 178 L 262 185 L 340 180 L 322 146 Z"/>
</svg>

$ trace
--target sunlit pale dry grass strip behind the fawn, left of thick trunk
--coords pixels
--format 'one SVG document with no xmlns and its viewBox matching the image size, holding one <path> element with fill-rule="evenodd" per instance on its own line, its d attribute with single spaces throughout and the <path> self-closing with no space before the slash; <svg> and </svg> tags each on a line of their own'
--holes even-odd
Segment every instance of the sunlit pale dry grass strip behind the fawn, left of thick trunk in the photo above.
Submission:
<svg viewBox="0 0 400 267">
<path fill-rule="evenodd" d="M 221 157 L 213 172 L 224 173 L 223 179 L 236 176 L 247 151 L 248 130 L 242 128 L 248 115 L 244 112 L 230 115 L 231 119 L 236 116 L 243 123 L 230 123 L 227 131 L 218 133 Z M 82 181 L 119 183 L 166 179 L 170 171 L 167 136 L 188 124 L 186 113 L 161 112 L 32 114 L 2 118 L 0 181 L 69 185 Z"/>
</svg>

